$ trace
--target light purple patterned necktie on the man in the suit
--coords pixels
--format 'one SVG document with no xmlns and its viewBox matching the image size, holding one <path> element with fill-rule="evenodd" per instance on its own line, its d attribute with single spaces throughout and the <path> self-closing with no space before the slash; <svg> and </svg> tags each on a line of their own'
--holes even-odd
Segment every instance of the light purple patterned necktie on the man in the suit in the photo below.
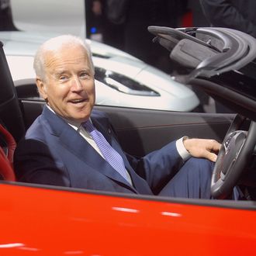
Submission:
<svg viewBox="0 0 256 256">
<path fill-rule="evenodd" d="M 119 155 L 119 153 L 111 147 L 111 145 L 102 135 L 102 133 L 100 133 L 99 130 L 96 130 L 90 121 L 82 123 L 82 126 L 84 126 L 84 128 L 92 136 L 92 139 L 99 147 L 99 150 L 102 152 L 102 155 L 106 159 L 106 161 L 108 161 L 112 168 L 118 171 L 119 174 L 122 175 L 123 178 L 125 178 L 126 181 L 130 183 L 127 177 L 126 168 L 123 163 L 123 158 Z"/>
</svg>

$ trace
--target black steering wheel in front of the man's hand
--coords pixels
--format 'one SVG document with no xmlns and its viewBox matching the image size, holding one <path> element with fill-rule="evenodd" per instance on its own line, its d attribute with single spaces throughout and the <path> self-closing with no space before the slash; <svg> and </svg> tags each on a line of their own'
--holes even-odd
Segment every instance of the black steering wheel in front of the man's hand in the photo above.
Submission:
<svg viewBox="0 0 256 256">
<path fill-rule="evenodd" d="M 239 130 L 244 117 L 237 115 L 227 131 L 213 168 L 211 195 L 226 199 L 244 171 L 256 144 L 256 123 L 248 131 Z"/>
</svg>

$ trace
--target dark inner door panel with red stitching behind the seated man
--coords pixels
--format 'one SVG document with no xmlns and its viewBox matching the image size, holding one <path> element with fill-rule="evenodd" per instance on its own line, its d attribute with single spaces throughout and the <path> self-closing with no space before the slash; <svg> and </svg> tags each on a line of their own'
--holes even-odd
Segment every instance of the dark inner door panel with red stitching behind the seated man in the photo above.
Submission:
<svg viewBox="0 0 256 256">
<path fill-rule="evenodd" d="M 42 112 L 44 102 L 22 101 L 26 127 Z M 222 141 L 234 114 L 169 112 L 95 106 L 106 112 L 127 153 L 142 156 L 182 136 Z"/>
</svg>

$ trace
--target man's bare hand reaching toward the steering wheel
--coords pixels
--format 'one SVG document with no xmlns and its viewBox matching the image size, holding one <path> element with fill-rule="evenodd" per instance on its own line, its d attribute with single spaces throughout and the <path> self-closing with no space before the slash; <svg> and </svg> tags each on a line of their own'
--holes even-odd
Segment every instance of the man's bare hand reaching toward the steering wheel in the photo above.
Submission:
<svg viewBox="0 0 256 256">
<path fill-rule="evenodd" d="M 215 162 L 221 144 L 216 140 L 187 139 L 183 141 L 184 147 L 192 157 L 204 157 Z"/>
</svg>

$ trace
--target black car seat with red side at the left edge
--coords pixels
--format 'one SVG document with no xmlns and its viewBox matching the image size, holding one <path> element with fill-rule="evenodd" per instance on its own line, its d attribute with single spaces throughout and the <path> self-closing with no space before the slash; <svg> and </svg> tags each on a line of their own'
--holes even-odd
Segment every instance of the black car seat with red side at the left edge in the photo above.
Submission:
<svg viewBox="0 0 256 256">
<path fill-rule="evenodd" d="M 0 179 L 15 181 L 13 153 L 24 134 L 22 110 L 0 42 Z"/>
</svg>

